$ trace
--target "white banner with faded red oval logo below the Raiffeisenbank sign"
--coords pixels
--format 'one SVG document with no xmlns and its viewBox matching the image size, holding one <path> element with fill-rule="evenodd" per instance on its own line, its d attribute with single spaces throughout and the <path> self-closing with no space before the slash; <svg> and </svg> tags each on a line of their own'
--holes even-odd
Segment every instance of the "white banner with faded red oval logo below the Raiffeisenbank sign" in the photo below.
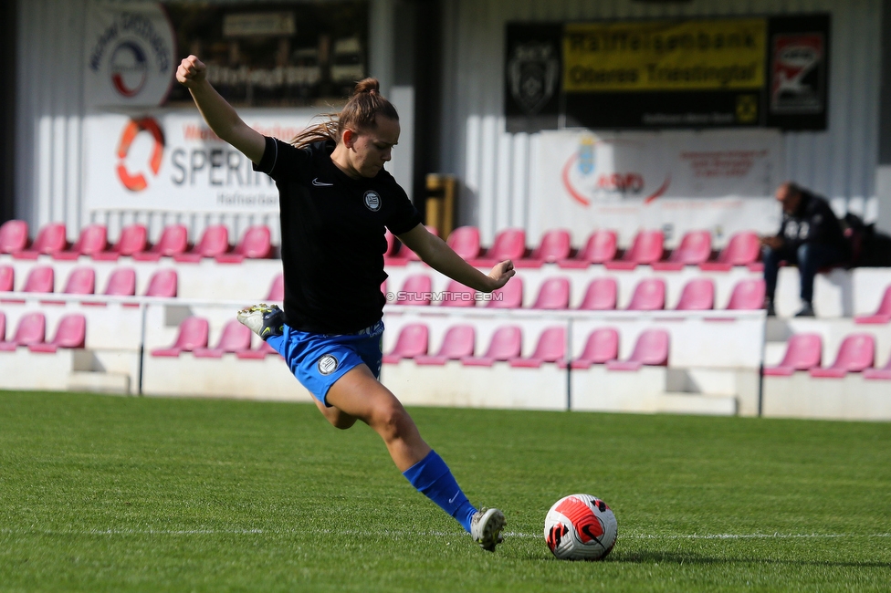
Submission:
<svg viewBox="0 0 891 593">
<path fill-rule="evenodd" d="M 577 244 L 598 228 L 624 244 L 642 228 L 663 229 L 669 244 L 691 230 L 718 244 L 743 230 L 774 233 L 781 159 L 776 130 L 542 132 L 530 233 L 567 228 Z"/>
</svg>

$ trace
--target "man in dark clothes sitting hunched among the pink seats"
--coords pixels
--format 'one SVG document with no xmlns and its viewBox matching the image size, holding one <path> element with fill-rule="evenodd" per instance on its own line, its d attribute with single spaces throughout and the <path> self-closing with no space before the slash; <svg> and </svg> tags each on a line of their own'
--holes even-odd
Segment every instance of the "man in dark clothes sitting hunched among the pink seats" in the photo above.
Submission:
<svg viewBox="0 0 891 593">
<path fill-rule="evenodd" d="M 813 277 L 826 265 L 839 264 L 846 251 L 842 226 L 823 198 L 785 182 L 777 188 L 782 223 L 776 236 L 761 237 L 767 314 L 776 315 L 773 296 L 780 262 L 798 265 L 802 286 L 802 310 L 795 317 L 813 317 Z"/>
</svg>

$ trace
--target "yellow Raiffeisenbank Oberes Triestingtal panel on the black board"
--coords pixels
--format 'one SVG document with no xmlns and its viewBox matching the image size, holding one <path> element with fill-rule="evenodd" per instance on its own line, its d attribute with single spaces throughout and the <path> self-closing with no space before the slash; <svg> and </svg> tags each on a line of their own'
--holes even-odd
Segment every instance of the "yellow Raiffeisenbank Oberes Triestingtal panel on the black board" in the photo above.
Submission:
<svg viewBox="0 0 891 593">
<path fill-rule="evenodd" d="M 763 18 L 567 24 L 563 89 L 762 88 L 766 39 Z"/>
</svg>

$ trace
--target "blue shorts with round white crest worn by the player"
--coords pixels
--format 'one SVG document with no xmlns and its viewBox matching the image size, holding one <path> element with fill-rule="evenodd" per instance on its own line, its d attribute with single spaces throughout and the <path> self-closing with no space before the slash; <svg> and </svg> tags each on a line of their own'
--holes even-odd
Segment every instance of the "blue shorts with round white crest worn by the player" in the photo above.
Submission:
<svg viewBox="0 0 891 593">
<path fill-rule="evenodd" d="M 348 370 L 364 364 L 375 378 L 381 376 L 383 320 L 354 334 L 313 334 L 287 324 L 281 336 L 266 341 L 288 362 L 303 387 L 330 407 L 328 390 Z"/>
</svg>

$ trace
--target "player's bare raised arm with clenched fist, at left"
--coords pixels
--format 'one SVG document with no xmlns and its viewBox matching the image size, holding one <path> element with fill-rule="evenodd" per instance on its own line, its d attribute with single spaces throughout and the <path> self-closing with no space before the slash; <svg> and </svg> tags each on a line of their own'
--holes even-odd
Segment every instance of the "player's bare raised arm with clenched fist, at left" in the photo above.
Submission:
<svg viewBox="0 0 891 593">
<path fill-rule="evenodd" d="M 176 68 L 176 80 L 192 93 L 195 105 L 211 130 L 254 162 L 263 158 L 266 140 L 247 126 L 236 110 L 207 81 L 207 67 L 197 57 L 184 57 Z"/>
</svg>

